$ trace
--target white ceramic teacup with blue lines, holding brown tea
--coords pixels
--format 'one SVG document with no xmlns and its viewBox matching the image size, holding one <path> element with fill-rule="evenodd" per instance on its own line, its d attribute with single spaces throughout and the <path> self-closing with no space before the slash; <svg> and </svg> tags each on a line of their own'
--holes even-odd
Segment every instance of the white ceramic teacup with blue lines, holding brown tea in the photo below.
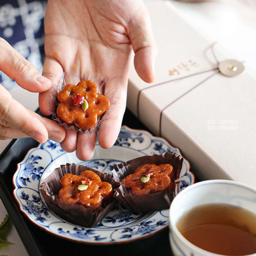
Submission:
<svg viewBox="0 0 256 256">
<path fill-rule="evenodd" d="M 256 189 L 230 180 L 208 180 L 183 189 L 170 206 L 169 237 L 174 256 L 216 256 L 185 239 L 177 222 L 189 209 L 203 204 L 224 203 L 245 208 L 256 214 Z M 256 253 L 251 254 L 256 256 Z"/>
</svg>

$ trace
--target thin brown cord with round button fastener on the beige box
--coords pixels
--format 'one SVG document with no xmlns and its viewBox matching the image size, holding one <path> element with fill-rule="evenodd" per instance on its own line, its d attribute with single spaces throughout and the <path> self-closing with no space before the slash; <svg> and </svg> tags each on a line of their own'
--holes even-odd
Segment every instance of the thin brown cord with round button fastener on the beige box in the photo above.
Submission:
<svg viewBox="0 0 256 256">
<path fill-rule="evenodd" d="M 209 75 L 206 79 L 204 79 L 203 81 L 196 84 L 194 87 L 189 89 L 187 92 L 183 93 L 181 96 L 179 96 L 173 102 L 168 104 L 164 109 L 162 109 L 162 111 L 160 113 L 160 120 L 159 120 L 159 136 L 160 137 L 161 137 L 162 114 L 163 114 L 164 110 L 169 108 L 172 104 L 174 104 L 174 102 L 176 102 L 177 100 L 179 100 L 180 98 L 182 98 L 183 96 L 185 96 L 186 94 L 188 94 L 189 92 L 191 92 L 192 90 L 197 88 L 199 85 L 203 84 L 205 81 L 209 80 L 211 77 L 213 77 L 214 75 L 216 75 L 218 73 L 221 73 L 222 75 L 225 75 L 225 76 L 228 76 L 228 77 L 234 77 L 234 76 L 239 75 L 240 73 L 243 72 L 243 70 L 244 70 L 243 64 L 239 61 L 224 60 L 224 61 L 219 62 L 218 59 L 216 58 L 215 53 L 214 53 L 214 49 L 213 49 L 214 44 L 212 44 L 210 46 L 210 48 L 211 48 L 212 55 L 213 55 L 214 59 L 216 60 L 216 63 L 218 65 L 218 67 L 216 67 L 214 69 L 209 69 L 209 70 L 193 73 L 191 75 L 187 75 L 187 76 L 184 76 L 184 77 L 168 80 L 166 82 L 162 82 L 162 83 L 159 83 L 159 84 L 154 84 L 154 85 L 148 86 L 146 88 L 143 88 L 139 91 L 138 98 L 137 98 L 137 117 L 138 118 L 140 117 L 139 116 L 139 100 L 140 100 L 141 92 L 143 90 L 153 88 L 153 87 L 156 87 L 156 86 L 159 86 L 159 85 L 162 85 L 162 84 L 167 84 L 167 83 L 170 83 L 170 82 L 174 82 L 174 81 L 177 81 L 177 80 L 186 79 L 186 78 L 193 77 L 193 76 L 196 76 L 196 75 L 201 75 L 203 73 L 208 73 L 208 72 L 211 72 L 211 71 L 217 71 L 217 72 L 214 72 L 213 74 Z"/>
</svg>

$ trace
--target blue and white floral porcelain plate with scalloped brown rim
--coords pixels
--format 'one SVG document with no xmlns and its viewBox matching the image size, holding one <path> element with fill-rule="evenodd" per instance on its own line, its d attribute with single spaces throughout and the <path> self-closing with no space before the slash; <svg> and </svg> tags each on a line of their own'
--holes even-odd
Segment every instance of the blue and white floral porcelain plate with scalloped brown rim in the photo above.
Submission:
<svg viewBox="0 0 256 256">
<path fill-rule="evenodd" d="M 117 141 L 111 148 L 103 149 L 96 143 L 93 158 L 86 162 L 81 162 L 75 152 L 67 153 L 59 143 L 48 140 L 29 150 L 24 160 L 18 164 L 13 176 L 13 193 L 21 211 L 34 224 L 62 238 L 92 244 L 122 243 L 145 238 L 169 225 L 169 210 L 135 213 L 119 203 L 95 227 L 82 228 L 48 210 L 40 196 L 39 184 L 62 164 L 91 164 L 99 167 L 101 172 L 111 174 L 113 166 L 121 162 L 144 155 L 163 154 L 166 151 L 181 155 L 178 148 L 172 147 L 164 139 L 126 126 L 121 127 Z M 189 169 L 190 164 L 184 159 L 181 189 L 195 181 Z"/>
</svg>

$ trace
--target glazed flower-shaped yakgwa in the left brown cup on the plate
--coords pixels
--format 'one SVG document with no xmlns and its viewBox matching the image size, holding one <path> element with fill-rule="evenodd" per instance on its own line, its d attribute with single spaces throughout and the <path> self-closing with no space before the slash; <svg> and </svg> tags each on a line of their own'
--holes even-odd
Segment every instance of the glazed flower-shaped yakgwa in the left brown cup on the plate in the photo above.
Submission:
<svg viewBox="0 0 256 256">
<path fill-rule="evenodd" d="M 61 185 L 59 200 L 86 207 L 97 208 L 104 199 L 113 195 L 112 185 L 101 181 L 100 177 L 90 170 L 82 172 L 80 176 L 65 174 L 61 178 Z"/>
</svg>

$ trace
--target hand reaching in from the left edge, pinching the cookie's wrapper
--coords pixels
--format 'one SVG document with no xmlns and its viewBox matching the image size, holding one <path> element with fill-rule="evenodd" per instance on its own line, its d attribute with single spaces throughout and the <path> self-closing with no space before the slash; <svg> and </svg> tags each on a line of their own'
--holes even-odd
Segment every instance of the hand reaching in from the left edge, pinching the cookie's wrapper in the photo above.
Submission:
<svg viewBox="0 0 256 256">
<path fill-rule="evenodd" d="M 22 88 L 43 92 L 51 87 L 51 80 L 39 74 L 36 68 L 0 38 L 0 69 Z M 65 130 L 56 122 L 26 109 L 12 98 L 0 84 L 0 139 L 32 137 L 40 143 L 49 138 L 61 142 Z"/>
</svg>

